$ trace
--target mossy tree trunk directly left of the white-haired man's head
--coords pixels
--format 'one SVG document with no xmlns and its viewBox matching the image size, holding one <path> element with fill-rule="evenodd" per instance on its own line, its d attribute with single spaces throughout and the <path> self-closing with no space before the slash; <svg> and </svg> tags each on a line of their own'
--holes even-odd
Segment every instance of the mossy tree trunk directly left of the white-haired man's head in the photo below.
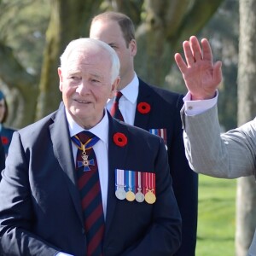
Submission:
<svg viewBox="0 0 256 256">
<path fill-rule="evenodd" d="M 37 119 L 52 112 L 61 102 L 57 67 L 67 44 L 88 37 L 89 20 L 102 0 L 52 0 L 49 27 L 46 32 L 44 63 L 39 84 Z"/>
</svg>

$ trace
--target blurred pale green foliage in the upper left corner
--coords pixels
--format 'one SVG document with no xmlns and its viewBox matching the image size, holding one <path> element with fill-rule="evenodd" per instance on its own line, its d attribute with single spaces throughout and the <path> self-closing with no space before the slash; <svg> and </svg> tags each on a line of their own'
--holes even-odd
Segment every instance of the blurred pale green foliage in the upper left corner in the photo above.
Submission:
<svg viewBox="0 0 256 256">
<path fill-rule="evenodd" d="M 49 23 L 48 0 L 0 2 L 0 42 L 14 49 L 15 57 L 28 73 L 39 74 L 45 32 Z"/>
</svg>

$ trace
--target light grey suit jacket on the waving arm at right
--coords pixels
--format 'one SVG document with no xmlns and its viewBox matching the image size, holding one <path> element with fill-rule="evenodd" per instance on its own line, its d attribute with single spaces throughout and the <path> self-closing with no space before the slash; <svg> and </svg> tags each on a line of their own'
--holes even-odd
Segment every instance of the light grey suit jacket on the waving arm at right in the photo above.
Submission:
<svg viewBox="0 0 256 256">
<path fill-rule="evenodd" d="M 181 116 L 186 154 L 195 172 L 225 178 L 256 176 L 256 119 L 220 137 L 217 106 L 194 116 L 182 109 Z M 256 235 L 248 255 L 256 256 Z"/>
</svg>

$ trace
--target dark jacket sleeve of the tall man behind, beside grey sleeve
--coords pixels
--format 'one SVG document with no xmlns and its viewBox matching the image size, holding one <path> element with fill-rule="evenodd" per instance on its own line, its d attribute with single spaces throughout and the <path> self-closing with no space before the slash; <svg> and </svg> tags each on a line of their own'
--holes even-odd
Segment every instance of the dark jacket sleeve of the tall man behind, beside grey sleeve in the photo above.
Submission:
<svg viewBox="0 0 256 256">
<path fill-rule="evenodd" d="M 183 106 L 180 96 L 178 109 Z M 182 246 L 175 256 L 194 256 L 196 245 L 197 212 L 198 212 L 198 174 L 189 167 L 183 146 L 183 129 L 180 113 L 175 115 L 175 135 L 169 148 L 170 169 L 173 190 L 183 219 Z"/>
</svg>

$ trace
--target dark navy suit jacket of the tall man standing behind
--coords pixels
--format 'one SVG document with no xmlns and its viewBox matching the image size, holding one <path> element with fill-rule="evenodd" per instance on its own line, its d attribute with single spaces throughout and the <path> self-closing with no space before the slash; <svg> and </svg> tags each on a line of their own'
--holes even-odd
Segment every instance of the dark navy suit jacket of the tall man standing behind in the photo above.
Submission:
<svg viewBox="0 0 256 256">
<path fill-rule="evenodd" d="M 189 168 L 183 146 L 180 109 L 183 96 L 144 83 L 139 79 L 137 104 L 147 102 L 149 113 L 136 112 L 134 125 L 149 129 L 166 129 L 172 186 L 183 219 L 182 246 L 176 256 L 194 256 L 197 229 L 198 175 Z"/>
</svg>

